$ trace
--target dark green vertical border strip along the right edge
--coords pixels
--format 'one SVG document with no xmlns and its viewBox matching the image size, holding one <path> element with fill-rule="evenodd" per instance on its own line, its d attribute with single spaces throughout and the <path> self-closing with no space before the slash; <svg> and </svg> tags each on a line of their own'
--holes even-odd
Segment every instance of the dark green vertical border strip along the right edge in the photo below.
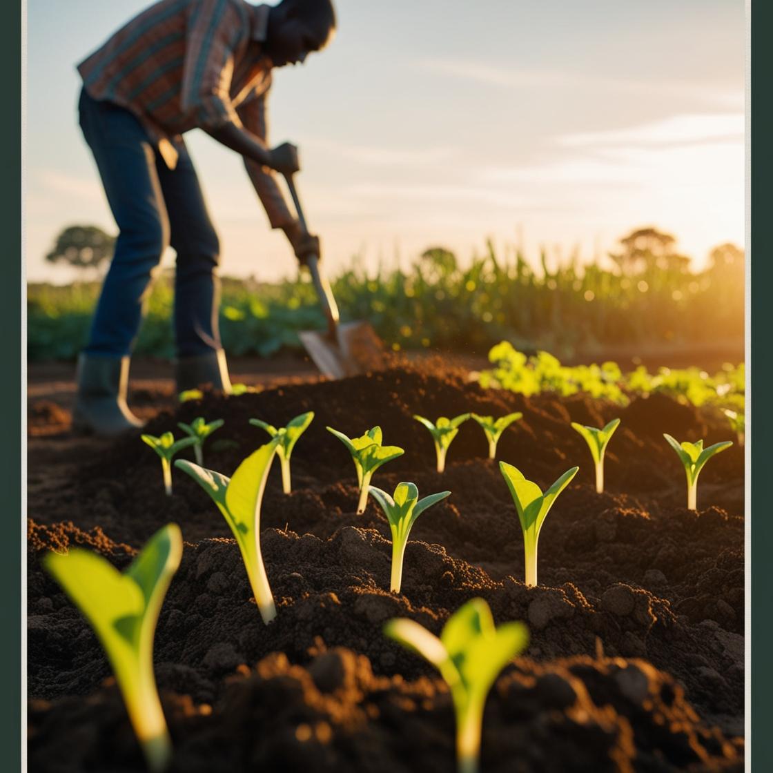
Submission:
<svg viewBox="0 0 773 773">
<path fill-rule="evenodd" d="M 751 100 L 751 261 L 747 264 L 747 282 L 751 286 L 751 386 L 754 418 L 751 427 L 751 770 L 773 771 L 773 734 L 771 734 L 770 691 L 773 689 L 773 583 L 770 561 L 773 550 L 773 520 L 765 500 L 770 474 L 766 470 L 769 453 L 765 444 L 771 437 L 771 397 L 773 378 L 770 356 L 770 288 L 773 281 L 770 257 L 771 230 L 771 131 L 773 102 L 770 99 L 770 31 L 773 12 L 770 3 L 752 0 L 751 80 L 757 99 Z M 754 142 L 754 139 L 757 139 Z M 756 260 L 755 260 L 756 258 Z M 754 280 L 754 281 L 752 281 Z M 769 493 L 769 492 L 768 492 Z"/>
</svg>

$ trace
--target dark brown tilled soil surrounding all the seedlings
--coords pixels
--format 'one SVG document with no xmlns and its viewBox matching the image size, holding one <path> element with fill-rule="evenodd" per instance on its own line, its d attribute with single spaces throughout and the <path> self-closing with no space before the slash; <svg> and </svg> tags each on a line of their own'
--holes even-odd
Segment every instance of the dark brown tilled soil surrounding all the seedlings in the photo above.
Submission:
<svg viewBox="0 0 773 773">
<path fill-rule="evenodd" d="M 155 667 L 174 771 L 451 770 L 448 692 L 381 628 L 407 616 L 439 632 L 475 597 L 497 623 L 522 619 L 531 633 L 525 657 L 489 697 L 483 771 L 743 769 L 744 453 L 734 446 L 710 461 L 700 510 L 690 512 L 683 469 L 662 438 L 726 440 L 720 417 L 660 396 L 625 409 L 525 398 L 424 367 L 208 395 L 145 431 L 223 418 L 205 465 L 231 475 L 267 439 L 250 417 L 284 424 L 305 410 L 315 420 L 293 455 L 295 490 L 281 493 L 277 465 L 264 497 L 262 546 L 278 606 L 268 626 L 213 502 L 179 471 L 166 497 L 158 458 L 137 435 L 84 446 L 73 475 L 34 489 L 30 771 L 143 769 L 97 639 L 39 557 L 78 544 L 125 567 L 170 521 L 186 549 L 158 621 Z M 502 436 L 498 458 L 543 488 L 581 468 L 543 527 L 536 588 L 523 584 L 516 509 L 480 427 L 462 425 L 438 475 L 431 437 L 412 418 L 512 410 L 523 419 Z M 570 421 L 601 426 L 616 416 L 608 492 L 598 495 Z M 391 491 L 410 480 L 422 495 L 452 492 L 414 526 L 400 594 L 388 592 L 386 518 L 373 501 L 356 515 L 351 458 L 325 431 L 359 435 L 375 424 L 385 444 L 406 449 L 375 485 Z"/>
</svg>

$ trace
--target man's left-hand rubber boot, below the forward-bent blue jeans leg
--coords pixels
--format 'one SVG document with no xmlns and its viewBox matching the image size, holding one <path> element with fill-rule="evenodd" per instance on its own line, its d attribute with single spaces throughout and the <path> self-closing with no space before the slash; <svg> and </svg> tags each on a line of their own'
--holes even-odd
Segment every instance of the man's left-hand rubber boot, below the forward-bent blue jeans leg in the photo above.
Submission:
<svg viewBox="0 0 773 773">
<path fill-rule="evenodd" d="M 142 427 L 126 404 L 129 357 L 100 357 L 82 353 L 76 372 L 77 393 L 73 429 L 114 437 Z"/>
</svg>

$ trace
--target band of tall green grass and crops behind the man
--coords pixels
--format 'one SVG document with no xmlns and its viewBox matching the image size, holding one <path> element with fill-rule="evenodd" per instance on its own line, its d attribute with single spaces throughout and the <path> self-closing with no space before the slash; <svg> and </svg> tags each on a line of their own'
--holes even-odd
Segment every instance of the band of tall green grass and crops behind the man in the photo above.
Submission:
<svg viewBox="0 0 773 773">
<path fill-rule="evenodd" d="M 426 257 L 409 271 L 359 264 L 332 281 L 342 318 L 366 319 L 395 349 L 485 352 L 507 340 L 517 349 L 558 356 L 609 346 L 657 346 L 743 340 L 742 271 L 701 273 L 651 267 L 621 276 L 576 261 L 535 271 L 517 255 L 493 248 L 468 267 Z M 28 288 L 31 360 L 73 359 L 87 339 L 97 284 Z M 172 285 L 159 278 L 135 352 L 171 357 Z M 324 328 L 307 282 L 223 281 L 220 331 L 229 354 L 269 357 L 299 349 L 298 331 Z"/>
</svg>

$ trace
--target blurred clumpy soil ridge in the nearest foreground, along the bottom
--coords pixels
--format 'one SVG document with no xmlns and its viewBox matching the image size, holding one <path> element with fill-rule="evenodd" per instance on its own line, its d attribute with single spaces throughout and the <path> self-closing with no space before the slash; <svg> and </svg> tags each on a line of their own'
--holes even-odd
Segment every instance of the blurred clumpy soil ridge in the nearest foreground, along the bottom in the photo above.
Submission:
<svg viewBox="0 0 773 773">
<path fill-rule="evenodd" d="M 170 773 L 445 771 L 454 717 L 436 677 L 378 676 L 369 660 L 322 649 L 308 668 L 274 652 L 242 666 L 214 704 L 164 695 Z M 36 771 L 143 770 L 115 686 L 88 703 L 33 701 Z M 678 730 L 677 730 L 678 728 Z M 486 704 L 485 771 L 741 771 L 742 744 L 703 725 L 673 679 L 642 660 L 519 660 Z M 56 765 L 52 762 L 56 753 Z"/>
</svg>

